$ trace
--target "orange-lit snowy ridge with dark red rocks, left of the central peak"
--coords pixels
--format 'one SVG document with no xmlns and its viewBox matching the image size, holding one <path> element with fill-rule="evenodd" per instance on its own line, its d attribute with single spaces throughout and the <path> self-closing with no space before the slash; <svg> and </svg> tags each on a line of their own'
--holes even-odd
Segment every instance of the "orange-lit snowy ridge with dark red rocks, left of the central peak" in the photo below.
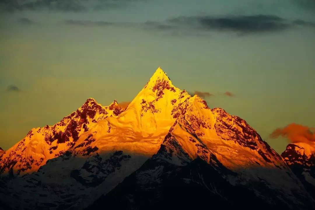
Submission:
<svg viewBox="0 0 315 210">
<path fill-rule="evenodd" d="M 122 112 L 116 101 L 107 107 L 89 98 L 77 111 L 64 117 L 53 126 L 33 128 L 24 139 L 0 157 L 0 175 L 14 175 L 37 171 L 47 160 L 58 157 L 71 149 L 82 133 L 100 120 Z"/>
</svg>

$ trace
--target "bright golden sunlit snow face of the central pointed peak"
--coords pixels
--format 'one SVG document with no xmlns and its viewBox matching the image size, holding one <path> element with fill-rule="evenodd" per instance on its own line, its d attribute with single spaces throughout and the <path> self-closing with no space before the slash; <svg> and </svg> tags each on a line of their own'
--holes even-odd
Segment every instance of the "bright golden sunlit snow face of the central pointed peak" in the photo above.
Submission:
<svg viewBox="0 0 315 210">
<path fill-rule="evenodd" d="M 75 148 L 81 154 L 95 148 L 99 152 L 124 150 L 153 155 L 175 122 L 173 109 L 188 98 L 190 95 L 175 88 L 158 68 L 124 112 L 98 122 L 78 139 Z M 87 145 L 87 138 L 96 140 Z"/>
</svg>

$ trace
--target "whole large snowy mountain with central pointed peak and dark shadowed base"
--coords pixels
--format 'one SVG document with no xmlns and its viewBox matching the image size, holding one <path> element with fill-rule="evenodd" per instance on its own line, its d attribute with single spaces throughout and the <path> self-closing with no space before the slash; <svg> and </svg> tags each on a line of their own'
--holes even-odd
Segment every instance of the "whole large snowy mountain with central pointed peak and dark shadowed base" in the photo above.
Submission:
<svg viewBox="0 0 315 210">
<path fill-rule="evenodd" d="M 253 128 L 176 88 L 161 68 L 125 109 L 88 99 L 54 126 L 32 129 L 0 156 L 0 173 L 0 204 L 12 209 L 83 209 L 99 197 L 94 206 L 154 209 L 174 202 L 163 197 L 169 192 L 181 199 L 196 190 L 213 206 L 242 207 L 246 199 L 248 208 L 313 208 Z"/>
</svg>

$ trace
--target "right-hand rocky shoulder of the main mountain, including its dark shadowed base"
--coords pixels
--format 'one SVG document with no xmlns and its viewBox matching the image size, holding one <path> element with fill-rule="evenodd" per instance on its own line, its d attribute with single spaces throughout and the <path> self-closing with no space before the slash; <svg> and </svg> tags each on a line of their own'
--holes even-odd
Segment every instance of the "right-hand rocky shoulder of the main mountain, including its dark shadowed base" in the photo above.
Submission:
<svg viewBox="0 0 315 210">
<path fill-rule="evenodd" d="M 173 114 L 176 121 L 157 154 L 89 209 L 207 207 L 194 201 L 203 197 L 212 207 L 313 208 L 281 156 L 244 120 L 209 109 L 198 96 Z"/>
</svg>

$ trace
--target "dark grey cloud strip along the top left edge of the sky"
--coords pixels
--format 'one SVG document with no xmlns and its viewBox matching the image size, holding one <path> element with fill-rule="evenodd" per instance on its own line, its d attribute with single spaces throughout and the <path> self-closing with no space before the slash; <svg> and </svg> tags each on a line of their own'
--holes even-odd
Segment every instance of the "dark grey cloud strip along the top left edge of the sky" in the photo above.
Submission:
<svg viewBox="0 0 315 210">
<path fill-rule="evenodd" d="M 85 12 L 89 10 L 117 9 L 128 3 L 127 0 L 24 0 L 0 1 L 0 8 L 7 12 L 52 10 L 62 12 Z"/>
</svg>

